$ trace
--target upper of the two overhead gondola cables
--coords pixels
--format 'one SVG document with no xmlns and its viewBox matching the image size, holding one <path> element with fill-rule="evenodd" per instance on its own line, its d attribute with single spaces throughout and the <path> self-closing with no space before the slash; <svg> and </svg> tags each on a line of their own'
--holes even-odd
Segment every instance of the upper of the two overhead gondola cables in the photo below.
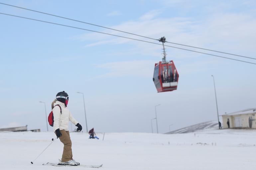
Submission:
<svg viewBox="0 0 256 170">
<path fill-rule="evenodd" d="M 143 35 L 139 35 L 139 34 L 135 34 L 135 33 L 131 33 L 131 32 L 126 32 L 126 31 L 122 31 L 122 30 L 118 30 L 118 29 L 114 29 L 114 28 L 109 28 L 109 27 L 104 27 L 104 26 L 100 26 L 100 25 L 96 25 L 96 24 L 92 24 L 92 23 L 88 23 L 88 22 L 74 20 L 74 19 L 71 19 L 71 18 L 66 18 L 66 17 L 54 15 L 54 14 L 49 14 L 49 13 L 45 13 L 45 12 L 41 12 L 41 11 L 36 11 L 36 10 L 28 9 L 28 8 L 23 8 L 23 7 L 15 6 L 15 5 L 5 4 L 5 3 L 1 3 L 1 2 L 0 2 L 0 4 L 11 6 L 11 7 L 15 7 L 15 8 L 20 8 L 20 9 L 24 9 L 24 10 L 29 10 L 29 11 L 33 11 L 33 12 L 37 12 L 37 13 L 41 13 L 41 14 L 46 14 L 46 15 L 50 15 L 50 16 L 54 16 L 54 17 L 59 17 L 59 18 L 63 18 L 63 19 L 66 19 L 66 20 L 71 20 L 71 21 L 76 21 L 76 22 L 80 22 L 80 23 L 84 23 L 84 24 L 89 24 L 89 25 L 96 26 L 96 27 L 101 27 L 101 28 L 111 29 L 111 30 L 115 30 L 115 31 L 123 32 L 123 33 L 128 33 L 128 34 L 131 34 L 131 35 L 136 35 L 136 36 L 140 36 L 140 37 L 144 37 L 144 38 L 148 38 L 148 39 L 158 40 L 158 39 L 155 39 L 155 38 L 151 38 L 151 37 L 147 37 L 147 36 L 143 36 Z M 166 41 L 166 42 L 168 42 L 168 41 Z M 217 51 L 217 50 L 211 50 L 211 49 L 207 49 L 207 48 L 200 48 L 200 47 L 195 47 L 195 46 L 191 46 L 191 45 L 179 44 L 179 43 L 175 43 L 175 42 L 168 42 L 168 43 L 172 43 L 172 44 L 176 44 L 176 45 L 182 45 L 182 46 L 187 46 L 187 47 L 192 47 L 192 48 L 198 48 L 198 49 L 202 49 L 202 50 L 208 50 L 208 51 L 213 51 L 213 52 L 218 52 L 218 53 L 234 55 L 234 56 L 238 56 L 238 57 L 244 57 L 244 58 L 249 58 L 249 59 L 256 60 L 256 58 L 253 58 L 253 57 L 246 57 L 246 56 L 242 56 L 242 55 L 231 54 L 231 53 Z"/>
</svg>

